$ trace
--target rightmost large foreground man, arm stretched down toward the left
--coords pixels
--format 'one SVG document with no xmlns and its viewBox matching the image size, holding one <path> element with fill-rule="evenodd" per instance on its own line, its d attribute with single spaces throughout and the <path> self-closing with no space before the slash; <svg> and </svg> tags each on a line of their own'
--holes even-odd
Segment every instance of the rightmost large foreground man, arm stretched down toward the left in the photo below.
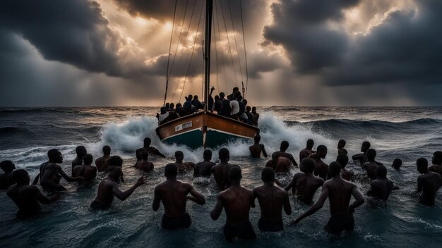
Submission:
<svg viewBox="0 0 442 248">
<path fill-rule="evenodd" d="M 330 202 L 331 217 L 328 224 L 325 225 L 325 230 L 333 235 L 339 235 L 343 230 L 352 232 L 354 229 L 354 209 L 364 204 L 365 200 L 361 192 L 357 190 L 357 186 L 352 182 L 343 180 L 340 177 L 341 166 L 337 162 L 330 163 L 329 175 L 331 180 L 324 182 L 321 196 L 309 210 L 299 216 L 294 223 L 299 223 L 303 218 L 316 213 L 324 205 L 328 198 Z M 351 197 L 355 201 L 350 204 Z"/>
</svg>

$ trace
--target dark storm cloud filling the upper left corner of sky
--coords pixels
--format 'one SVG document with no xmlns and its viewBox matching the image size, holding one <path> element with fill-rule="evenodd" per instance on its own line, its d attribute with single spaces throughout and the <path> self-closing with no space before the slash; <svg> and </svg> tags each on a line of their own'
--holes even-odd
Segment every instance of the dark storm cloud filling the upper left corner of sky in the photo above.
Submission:
<svg viewBox="0 0 442 248">
<path fill-rule="evenodd" d="M 0 2 L 0 27 L 20 34 L 49 61 L 107 75 L 143 73 L 142 66 L 120 61 L 117 51 L 125 41 L 108 24 L 95 1 Z"/>
</svg>

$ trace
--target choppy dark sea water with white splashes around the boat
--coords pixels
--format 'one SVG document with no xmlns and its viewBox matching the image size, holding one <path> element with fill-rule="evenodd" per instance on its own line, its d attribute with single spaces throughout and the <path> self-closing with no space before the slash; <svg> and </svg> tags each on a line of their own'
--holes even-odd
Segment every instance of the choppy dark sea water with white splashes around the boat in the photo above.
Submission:
<svg viewBox="0 0 442 248">
<path fill-rule="evenodd" d="M 0 109 L 0 161 L 12 160 L 17 168 L 28 170 L 32 179 L 52 148 L 61 150 L 62 168 L 70 173 L 76 146 L 85 145 L 95 159 L 101 156 L 101 147 L 109 144 L 112 154 L 124 159 L 126 182 L 121 183 L 122 189 L 131 187 L 143 175 L 130 166 L 134 163 L 134 150 L 142 147 L 144 137 L 153 138 L 153 145 L 167 155 L 166 159 L 150 158 L 155 171 L 147 174 L 146 185 L 138 187 L 124 202 L 115 199 L 109 211 L 89 209 L 100 180 L 87 187 L 62 180 L 68 191 L 54 204 L 42 206 L 42 216 L 28 221 L 16 220 L 16 205 L 6 192 L 0 192 L 0 247 L 441 247 L 442 192 L 437 196 L 437 205 L 431 207 L 419 204 L 418 196 L 413 194 L 418 176 L 416 159 L 423 156 L 431 161 L 432 153 L 442 149 L 440 107 L 258 108 L 262 142 L 269 154 L 287 140 L 288 152 L 297 158 L 306 140 L 312 138 L 315 148 L 319 144 L 328 147 L 325 162 L 330 163 L 337 155 L 338 140 L 347 141 L 350 156 L 359 153 L 362 142 L 368 140 L 378 151 L 377 160 L 387 166 L 388 177 L 400 190 L 391 194 L 386 208 L 367 203 L 360 206 L 354 213 L 354 233 L 339 240 L 331 240 L 323 230 L 330 217 L 328 202 L 298 225 L 274 234 L 258 230 L 257 206 L 250 215 L 257 240 L 235 244 L 227 244 L 222 235 L 225 214 L 217 221 L 210 218 L 217 194 L 213 178 L 193 180 L 191 173 L 179 175 L 179 179 L 191 182 L 202 192 L 206 204 L 188 203 L 192 218 L 189 229 L 162 230 L 163 209 L 154 212 L 152 201 L 155 185 L 165 180 L 165 164 L 174 161 L 173 154 L 178 149 L 184 151 L 185 161 L 201 161 L 203 149 L 162 144 L 155 135 L 157 111 L 153 107 Z M 225 145 L 231 152 L 231 162 L 242 168 L 242 184 L 252 189 L 262 183 L 261 170 L 267 159 L 250 159 L 248 146 Z M 217 150 L 214 149 L 213 161 L 217 161 Z M 390 167 L 395 158 L 404 161 L 400 171 Z M 363 173 L 357 164 L 347 167 L 356 174 Z M 292 173 L 297 171 L 296 168 Z M 98 178 L 104 176 L 100 174 Z M 355 183 L 365 194 L 368 182 L 358 179 Z M 292 216 L 284 216 L 284 223 L 308 208 L 292 200 Z"/>
</svg>

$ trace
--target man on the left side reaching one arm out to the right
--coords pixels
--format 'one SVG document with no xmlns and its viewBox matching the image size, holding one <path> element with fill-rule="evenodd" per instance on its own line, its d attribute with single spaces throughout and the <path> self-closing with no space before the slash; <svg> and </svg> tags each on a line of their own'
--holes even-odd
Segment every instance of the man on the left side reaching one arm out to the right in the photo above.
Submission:
<svg viewBox="0 0 442 248">
<path fill-rule="evenodd" d="M 109 163 L 109 174 L 103 178 L 100 185 L 98 185 L 97 197 L 95 197 L 94 201 L 90 204 L 92 209 L 109 209 L 114 201 L 114 196 L 121 201 L 124 201 L 137 187 L 145 184 L 147 181 L 146 177 L 142 176 L 131 188 L 129 188 L 129 190 L 121 191 L 119 188 L 119 182 L 121 178 L 121 167 L 123 166 L 123 160 L 119 156 L 112 156 L 111 159 L 112 164 Z"/>
</svg>

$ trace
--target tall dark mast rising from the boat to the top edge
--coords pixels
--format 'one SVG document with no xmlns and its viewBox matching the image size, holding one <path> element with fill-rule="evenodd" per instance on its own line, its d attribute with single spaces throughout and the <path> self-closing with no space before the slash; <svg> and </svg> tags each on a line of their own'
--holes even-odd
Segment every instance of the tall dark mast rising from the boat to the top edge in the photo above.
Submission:
<svg viewBox="0 0 442 248">
<path fill-rule="evenodd" d="M 213 0 L 205 2 L 205 40 L 204 40 L 204 113 L 208 111 L 210 89 L 210 43 L 212 40 Z"/>
</svg>

